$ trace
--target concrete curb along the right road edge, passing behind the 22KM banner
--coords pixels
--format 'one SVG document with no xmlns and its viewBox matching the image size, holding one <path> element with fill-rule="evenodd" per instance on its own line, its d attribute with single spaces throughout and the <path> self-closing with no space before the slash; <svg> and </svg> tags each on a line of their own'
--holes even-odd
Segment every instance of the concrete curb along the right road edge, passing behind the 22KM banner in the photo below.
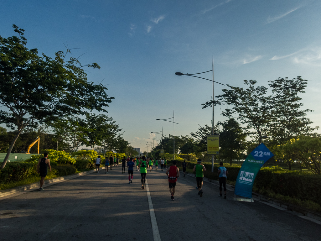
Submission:
<svg viewBox="0 0 321 241">
<path fill-rule="evenodd" d="M 186 175 L 189 175 L 191 177 L 195 177 L 195 174 L 186 173 Z M 211 179 L 208 179 L 206 177 L 203 178 L 203 181 L 208 182 L 208 183 L 212 183 L 214 185 L 219 185 L 219 181 L 211 180 Z M 226 189 L 227 190 L 234 191 L 234 188 L 235 187 L 233 185 L 226 184 Z M 271 204 L 276 205 L 278 207 L 287 209 L 289 211 L 297 212 L 297 213 L 302 214 L 303 216 L 309 217 L 311 219 L 317 219 L 317 220 L 321 221 L 321 214 L 319 214 L 317 212 L 314 212 L 314 211 L 311 211 L 311 210 L 308 210 L 308 209 L 305 209 L 305 208 L 301 208 L 301 207 L 298 207 L 296 205 L 293 205 L 293 204 L 290 204 L 290 203 L 286 203 L 286 202 L 283 202 L 283 201 L 280 201 L 280 200 L 269 198 L 267 196 L 264 196 L 262 194 L 258 194 L 258 193 L 255 193 L 255 192 L 252 192 L 252 197 L 256 201 L 268 202 L 268 203 L 271 203 Z"/>
</svg>

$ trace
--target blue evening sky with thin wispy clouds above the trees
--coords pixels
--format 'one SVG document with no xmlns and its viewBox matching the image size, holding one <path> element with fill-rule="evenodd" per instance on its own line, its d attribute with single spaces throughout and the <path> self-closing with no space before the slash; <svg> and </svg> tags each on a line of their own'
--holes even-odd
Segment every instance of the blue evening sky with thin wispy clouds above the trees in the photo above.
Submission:
<svg viewBox="0 0 321 241">
<path fill-rule="evenodd" d="M 308 118 L 321 126 L 321 1 L 1 1 L 0 35 L 25 30 L 29 49 L 50 57 L 72 50 L 88 69 L 88 80 L 102 83 L 115 99 L 108 115 L 133 147 L 145 147 L 150 132 L 188 135 L 211 125 L 212 83 L 175 72 L 212 70 L 214 81 L 243 87 L 253 79 L 268 86 L 278 77 L 308 80 L 301 94 Z M 212 57 L 213 56 L 213 57 Z M 212 78 L 212 72 L 200 75 Z M 214 84 L 214 95 L 227 86 Z M 225 121 L 226 106 L 215 106 L 214 123 Z M 160 139 L 158 135 L 158 139 Z M 156 144 L 156 142 L 154 141 Z"/>
</svg>

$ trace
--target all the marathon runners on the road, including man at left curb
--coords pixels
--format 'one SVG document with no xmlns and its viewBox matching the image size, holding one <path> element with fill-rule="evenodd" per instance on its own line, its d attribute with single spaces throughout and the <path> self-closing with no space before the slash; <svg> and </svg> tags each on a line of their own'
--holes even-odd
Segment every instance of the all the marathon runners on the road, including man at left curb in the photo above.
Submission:
<svg viewBox="0 0 321 241">
<path fill-rule="evenodd" d="M 135 159 L 133 157 L 126 157 L 124 156 L 122 159 L 122 173 L 125 173 L 125 168 L 126 166 L 128 167 L 128 183 L 131 184 L 133 183 L 133 175 L 134 175 L 134 167 L 135 167 Z M 105 162 L 105 174 L 108 173 L 108 166 L 110 166 L 110 170 L 112 170 L 114 163 L 116 162 L 116 166 L 118 166 L 119 163 L 119 158 L 115 158 L 110 155 L 109 158 L 106 158 Z M 165 167 L 166 170 L 166 175 L 168 176 L 168 183 L 169 183 L 169 192 L 170 192 L 170 198 L 171 200 L 174 200 L 174 194 L 175 194 L 175 187 L 176 187 L 176 182 L 177 178 L 179 177 L 179 169 L 176 166 L 177 162 L 174 160 L 172 161 L 172 165 L 167 168 L 167 160 L 165 158 L 162 158 L 161 160 L 155 160 L 155 159 L 150 159 L 149 157 L 139 157 L 136 159 L 136 171 L 140 170 L 141 174 L 141 183 L 142 183 L 142 189 L 145 189 L 145 182 L 146 182 L 146 174 L 147 174 L 147 168 L 149 168 L 150 172 L 153 169 L 153 164 L 155 163 L 156 169 L 158 168 L 158 164 L 161 164 L 162 171 Z M 101 158 L 98 156 L 96 159 L 96 173 L 99 173 L 99 167 L 101 164 Z M 126 165 L 127 164 L 127 165 Z M 48 167 L 51 172 L 51 166 L 50 166 L 50 160 L 48 159 L 48 153 L 44 153 L 44 157 L 39 159 L 38 165 L 37 165 L 37 171 L 40 174 L 40 188 L 39 191 L 43 191 L 43 183 L 44 179 L 47 175 L 48 172 Z M 186 167 L 187 163 L 184 162 L 182 163 L 183 167 L 183 173 L 184 177 L 186 174 Z M 202 164 L 201 159 L 197 159 L 197 164 L 193 168 L 193 172 L 196 173 L 196 183 L 197 183 L 197 189 L 198 189 L 198 195 L 200 197 L 203 196 L 203 177 L 204 177 L 204 171 L 206 171 L 205 166 Z M 223 190 L 224 190 L 224 199 L 226 199 L 226 177 L 228 175 L 228 172 L 225 167 L 223 167 L 223 162 L 220 162 L 220 167 L 218 168 L 218 176 L 219 176 L 219 183 L 220 183 L 220 193 L 219 196 L 222 197 L 222 185 L 223 185 Z"/>
</svg>

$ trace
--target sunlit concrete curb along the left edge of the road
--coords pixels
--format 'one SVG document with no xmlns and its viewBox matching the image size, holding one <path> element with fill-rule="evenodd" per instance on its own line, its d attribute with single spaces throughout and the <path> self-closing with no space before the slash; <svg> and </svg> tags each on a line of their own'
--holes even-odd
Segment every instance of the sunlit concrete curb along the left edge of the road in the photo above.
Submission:
<svg viewBox="0 0 321 241">
<path fill-rule="evenodd" d="M 70 180 L 70 179 L 74 179 L 77 177 L 80 177 L 82 175 L 87 175 L 91 172 L 94 172 L 94 170 L 90 170 L 90 171 L 86 171 L 86 172 L 81 172 L 81 173 L 75 173 L 75 174 L 71 174 L 71 175 L 67 175 L 67 176 L 62 176 L 62 177 L 57 177 L 54 179 L 50 179 L 50 180 L 45 180 L 43 187 L 48 187 L 50 185 L 59 183 L 59 182 L 63 182 L 66 180 Z M 15 188 L 11 188 L 11 189 L 5 189 L 0 191 L 0 198 L 4 199 L 3 197 L 15 194 L 15 193 L 19 193 L 19 192 L 30 192 L 33 190 L 36 190 L 39 188 L 39 182 L 37 183 L 31 183 L 31 184 L 27 184 L 27 185 L 23 185 L 23 186 L 19 186 L 19 187 L 15 187 Z"/>
</svg>

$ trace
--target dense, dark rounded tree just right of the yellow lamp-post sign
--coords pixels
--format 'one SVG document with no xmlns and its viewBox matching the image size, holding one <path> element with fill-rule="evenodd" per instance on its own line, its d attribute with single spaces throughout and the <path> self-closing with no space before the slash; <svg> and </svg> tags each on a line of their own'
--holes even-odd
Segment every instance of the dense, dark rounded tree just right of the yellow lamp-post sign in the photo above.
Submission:
<svg viewBox="0 0 321 241">
<path fill-rule="evenodd" d="M 220 133 L 220 158 L 230 160 L 232 165 L 232 160 L 239 159 L 246 149 L 246 134 L 233 118 L 219 124 L 223 128 Z"/>
</svg>

